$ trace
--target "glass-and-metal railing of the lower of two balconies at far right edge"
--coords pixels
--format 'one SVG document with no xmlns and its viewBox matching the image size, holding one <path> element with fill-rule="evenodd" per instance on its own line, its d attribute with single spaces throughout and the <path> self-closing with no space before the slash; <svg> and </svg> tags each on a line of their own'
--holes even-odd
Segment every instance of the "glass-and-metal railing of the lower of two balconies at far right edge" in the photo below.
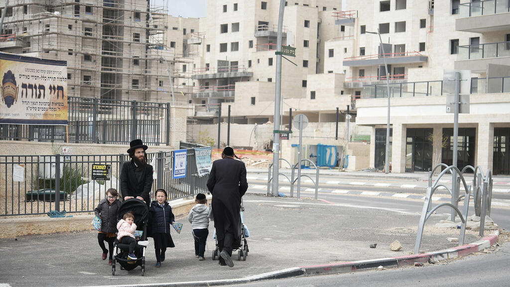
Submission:
<svg viewBox="0 0 510 287">
<path fill-rule="evenodd" d="M 510 57 L 510 41 L 458 46 L 458 60 Z"/>
</svg>

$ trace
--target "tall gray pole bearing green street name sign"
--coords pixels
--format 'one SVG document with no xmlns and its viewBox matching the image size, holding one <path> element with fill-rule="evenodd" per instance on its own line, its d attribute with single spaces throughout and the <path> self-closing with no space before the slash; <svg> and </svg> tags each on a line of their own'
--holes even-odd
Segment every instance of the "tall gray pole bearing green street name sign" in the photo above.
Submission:
<svg viewBox="0 0 510 287">
<path fill-rule="evenodd" d="M 279 151 L 280 151 L 280 93 L 282 89 L 282 28 L 284 23 L 285 0 L 280 0 L 278 15 L 278 34 L 276 36 L 276 88 L 274 93 L 273 117 L 273 190 L 272 195 L 278 196 Z M 278 131 L 278 132 L 276 132 Z M 268 175 L 270 176 L 270 175 Z"/>
</svg>

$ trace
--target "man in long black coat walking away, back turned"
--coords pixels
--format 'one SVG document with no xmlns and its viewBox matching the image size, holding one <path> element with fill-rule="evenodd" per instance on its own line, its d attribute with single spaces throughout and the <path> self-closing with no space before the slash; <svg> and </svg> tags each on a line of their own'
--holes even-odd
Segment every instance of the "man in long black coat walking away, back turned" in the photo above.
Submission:
<svg viewBox="0 0 510 287">
<path fill-rule="evenodd" d="M 220 251 L 219 264 L 233 267 L 232 249 L 241 235 L 241 197 L 246 193 L 248 183 L 244 162 L 234 159 L 238 157 L 231 147 L 226 147 L 221 157 L 213 162 L 207 188 L 213 195 L 211 206 Z"/>
</svg>

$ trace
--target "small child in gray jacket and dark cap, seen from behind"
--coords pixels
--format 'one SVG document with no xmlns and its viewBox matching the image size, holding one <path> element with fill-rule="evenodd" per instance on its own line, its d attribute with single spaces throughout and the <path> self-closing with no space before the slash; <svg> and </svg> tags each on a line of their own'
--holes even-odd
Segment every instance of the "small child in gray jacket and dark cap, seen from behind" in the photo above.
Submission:
<svg viewBox="0 0 510 287">
<path fill-rule="evenodd" d="M 206 251 L 207 235 L 209 235 L 209 206 L 205 194 L 197 194 L 195 198 L 197 203 L 188 213 L 188 221 L 193 229 L 193 238 L 195 240 L 195 257 L 198 260 L 205 260 L 203 253 Z"/>
</svg>

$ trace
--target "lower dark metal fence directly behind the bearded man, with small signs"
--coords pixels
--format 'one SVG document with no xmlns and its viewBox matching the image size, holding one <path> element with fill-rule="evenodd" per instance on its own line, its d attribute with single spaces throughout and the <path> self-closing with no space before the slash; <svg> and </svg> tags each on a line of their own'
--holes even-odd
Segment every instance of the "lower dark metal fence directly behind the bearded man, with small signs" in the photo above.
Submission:
<svg viewBox="0 0 510 287">
<path fill-rule="evenodd" d="M 164 188 L 168 200 L 207 193 L 207 176 L 196 175 L 194 149 L 188 149 L 186 177 L 172 178 L 174 151 L 147 154 L 156 157 L 157 179 L 150 193 Z M 129 157 L 118 155 L 27 155 L 0 156 L 0 216 L 45 214 L 50 210 L 92 212 L 108 188 L 118 188 L 122 164 Z M 109 181 L 91 180 L 93 164 L 110 164 Z M 166 166 L 166 168 L 165 168 Z M 59 190 L 60 192 L 56 192 Z M 122 192 L 122 190 L 119 190 Z"/>
</svg>

